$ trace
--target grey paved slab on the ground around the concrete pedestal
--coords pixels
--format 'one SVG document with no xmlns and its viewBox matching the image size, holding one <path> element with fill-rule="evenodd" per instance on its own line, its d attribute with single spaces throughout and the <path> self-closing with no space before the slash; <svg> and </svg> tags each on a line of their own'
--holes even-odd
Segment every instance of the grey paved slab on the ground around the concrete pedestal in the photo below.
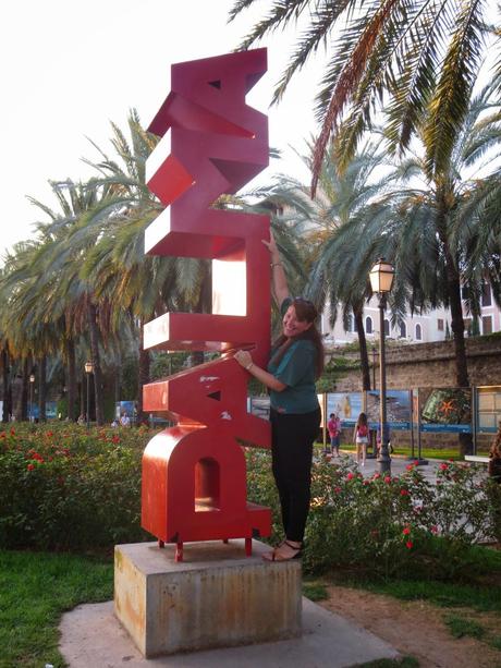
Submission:
<svg viewBox="0 0 501 668">
<path fill-rule="evenodd" d="M 387 642 L 306 598 L 302 637 L 155 659 L 143 658 L 112 602 L 78 606 L 63 616 L 60 630 L 70 668 L 347 668 L 399 656 Z"/>
</svg>

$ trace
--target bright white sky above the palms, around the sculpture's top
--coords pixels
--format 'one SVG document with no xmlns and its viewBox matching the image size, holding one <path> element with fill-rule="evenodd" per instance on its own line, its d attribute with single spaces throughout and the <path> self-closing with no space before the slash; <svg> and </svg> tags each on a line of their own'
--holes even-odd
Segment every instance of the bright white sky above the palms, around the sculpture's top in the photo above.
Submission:
<svg viewBox="0 0 501 668">
<path fill-rule="evenodd" d="M 258 15 L 227 25 L 232 0 L 16 0 L 0 9 L 3 150 L 0 257 L 47 220 L 27 196 L 56 206 L 49 180 L 85 181 L 97 159 L 87 137 L 112 153 L 110 121 L 126 130 L 131 108 L 144 125 L 169 93 L 171 63 L 233 50 Z M 291 48 L 280 33 L 268 47 L 268 73 L 247 102 L 269 114 L 270 145 L 283 153 L 260 177 L 286 172 L 307 180 L 295 155 L 315 131 L 313 66 L 284 100 L 268 109 Z M 289 148 L 293 146 L 295 150 Z"/>
</svg>

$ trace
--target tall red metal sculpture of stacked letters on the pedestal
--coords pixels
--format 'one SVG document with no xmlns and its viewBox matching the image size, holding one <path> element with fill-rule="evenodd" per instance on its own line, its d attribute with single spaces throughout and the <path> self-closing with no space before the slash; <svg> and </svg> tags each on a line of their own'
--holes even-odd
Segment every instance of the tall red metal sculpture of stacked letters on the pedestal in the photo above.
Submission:
<svg viewBox="0 0 501 668">
<path fill-rule="evenodd" d="M 148 187 L 169 208 L 146 231 L 146 252 L 212 260 L 212 313 L 168 313 L 145 327 L 145 348 L 219 351 L 217 361 L 144 388 L 147 411 L 176 426 L 143 457 L 142 524 L 164 543 L 270 533 L 270 510 L 246 500 L 239 440 L 270 446 L 269 424 L 247 413 L 246 372 L 227 353 L 269 353 L 267 216 L 210 208 L 268 165 L 267 118 L 245 104 L 266 72 L 266 49 L 171 68 L 171 92 L 149 131 L 162 136 L 147 162 Z"/>
</svg>

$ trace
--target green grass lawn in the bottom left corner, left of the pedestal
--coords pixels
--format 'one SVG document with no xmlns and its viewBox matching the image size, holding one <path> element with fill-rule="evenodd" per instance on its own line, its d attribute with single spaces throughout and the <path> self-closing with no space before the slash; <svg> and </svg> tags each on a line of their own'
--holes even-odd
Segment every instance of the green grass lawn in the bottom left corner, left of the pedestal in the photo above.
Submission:
<svg viewBox="0 0 501 668">
<path fill-rule="evenodd" d="M 0 550 L 0 668 L 64 666 L 61 615 L 112 596 L 111 560 Z"/>
</svg>

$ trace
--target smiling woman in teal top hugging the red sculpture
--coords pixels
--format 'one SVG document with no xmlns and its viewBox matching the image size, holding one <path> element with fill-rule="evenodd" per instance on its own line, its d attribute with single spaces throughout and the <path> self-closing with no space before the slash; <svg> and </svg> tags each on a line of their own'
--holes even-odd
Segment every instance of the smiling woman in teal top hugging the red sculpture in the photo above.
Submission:
<svg viewBox="0 0 501 668">
<path fill-rule="evenodd" d="M 272 471 L 285 539 L 264 559 L 289 561 L 302 555 L 309 510 L 313 445 L 320 426 L 315 380 L 323 368 L 323 348 L 315 327 L 317 309 L 308 300 L 289 296 L 273 236 L 262 243 L 271 254 L 272 292 L 282 313 L 282 335 L 267 369 L 257 366 L 245 350 L 235 360 L 270 390 Z"/>
</svg>

